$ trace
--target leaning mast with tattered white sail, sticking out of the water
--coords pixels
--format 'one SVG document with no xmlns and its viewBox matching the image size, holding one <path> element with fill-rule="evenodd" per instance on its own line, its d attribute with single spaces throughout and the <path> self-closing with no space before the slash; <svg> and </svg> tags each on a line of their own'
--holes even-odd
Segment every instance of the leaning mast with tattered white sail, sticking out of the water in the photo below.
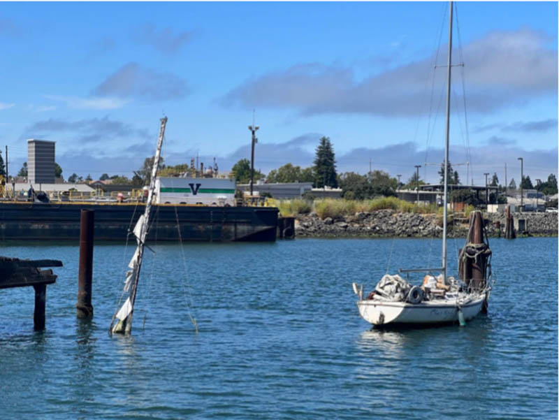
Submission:
<svg viewBox="0 0 559 420">
<path fill-rule="evenodd" d="M 140 280 L 140 269 L 144 255 L 145 238 L 147 236 L 147 228 L 150 222 L 150 212 L 152 210 L 152 199 L 155 191 L 155 180 L 159 169 L 159 158 L 161 157 L 161 146 L 165 135 L 165 126 L 167 117 L 161 118 L 161 126 L 159 127 L 159 138 L 157 138 L 157 149 L 153 159 L 152 178 L 150 179 L 150 187 L 147 194 L 147 202 L 143 215 L 140 215 L 136 226 L 133 229 L 133 235 L 136 238 L 137 247 L 132 259 L 128 265 L 129 270 L 126 271 L 126 280 L 124 280 L 124 294 L 128 294 L 126 300 L 117 312 L 115 312 L 110 321 L 110 333 L 129 334 L 132 329 L 132 317 L 134 314 L 134 302 L 136 301 L 136 292 L 138 291 L 138 281 Z M 116 321 L 116 323 L 115 323 Z"/>
</svg>

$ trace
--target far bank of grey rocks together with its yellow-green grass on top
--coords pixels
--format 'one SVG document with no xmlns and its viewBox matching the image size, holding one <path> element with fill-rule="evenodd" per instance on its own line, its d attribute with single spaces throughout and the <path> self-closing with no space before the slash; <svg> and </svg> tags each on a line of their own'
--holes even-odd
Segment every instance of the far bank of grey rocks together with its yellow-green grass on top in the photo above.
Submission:
<svg viewBox="0 0 559 420">
<path fill-rule="evenodd" d="M 395 197 L 371 200 L 324 198 L 277 200 L 269 203 L 279 208 L 282 217 L 295 217 L 298 238 L 433 238 L 442 236 L 442 207 L 436 204 L 409 203 Z M 449 238 L 467 235 L 473 205 L 462 212 L 449 212 Z M 525 219 L 528 229 L 517 236 L 558 236 L 558 214 L 545 212 L 514 213 Z M 505 215 L 486 213 L 487 233 L 504 236 Z"/>
</svg>

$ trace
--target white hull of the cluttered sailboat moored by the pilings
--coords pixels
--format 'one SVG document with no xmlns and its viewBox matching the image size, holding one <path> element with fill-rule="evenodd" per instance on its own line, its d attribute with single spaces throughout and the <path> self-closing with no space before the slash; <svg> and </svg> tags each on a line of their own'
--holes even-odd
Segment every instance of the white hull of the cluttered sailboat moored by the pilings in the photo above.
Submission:
<svg viewBox="0 0 559 420">
<path fill-rule="evenodd" d="M 460 305 L 465 321 L 472 319 L 481 310 L 486 294 Z M 431 300 L 421 303 L 384 302 L 358 300 L 361 317 L 373 325 L 386 324 L 447 324 L 458 321 L 458 306 L 455 302 Z"/>
</svg>

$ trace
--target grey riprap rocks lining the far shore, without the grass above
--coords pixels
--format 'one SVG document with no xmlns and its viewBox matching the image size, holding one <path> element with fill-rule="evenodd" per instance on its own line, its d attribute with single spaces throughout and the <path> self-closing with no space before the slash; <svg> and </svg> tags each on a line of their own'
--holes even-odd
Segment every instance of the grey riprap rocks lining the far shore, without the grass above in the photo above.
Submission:
<svg viewBox="0 0 559 420">
<path fill-rule="evenodd" d="M 514 213 L 513 217 L 527 223 L 527 231 L 517 233 L 520 236 L 558 235 L 558 213 Z M 484 219 L 488 236 L 504 236 L 504 214 L 486 213 Z M 448 236 L 465 238 L 467 229 L 467 219 L 451 219 Z M 296 238 L 440 238 L 442 216 L 377 210 L 321 220 L 311 213 L 296 217 L 295 233 Z"/>
</svg>

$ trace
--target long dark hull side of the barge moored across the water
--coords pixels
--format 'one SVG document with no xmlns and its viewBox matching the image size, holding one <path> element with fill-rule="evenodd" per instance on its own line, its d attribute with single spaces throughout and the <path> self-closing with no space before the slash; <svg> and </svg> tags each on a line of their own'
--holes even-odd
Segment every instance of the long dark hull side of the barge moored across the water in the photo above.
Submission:
<svg viewBox="0 0 559 420">
<path fill-rule="evenodd" d="M 0 202 L 0 239 L 78 240 L 81 210 L 95 211 L 96 240 L 126 240 L 143 203 Z M 154 205 L 148 238 L 156 241 L 275 241 L 278 209 Z M 178 222 L 178 223 L 177 223 Z M 179 229 L 177 229 L 177 224 Z"/>
</svg>

